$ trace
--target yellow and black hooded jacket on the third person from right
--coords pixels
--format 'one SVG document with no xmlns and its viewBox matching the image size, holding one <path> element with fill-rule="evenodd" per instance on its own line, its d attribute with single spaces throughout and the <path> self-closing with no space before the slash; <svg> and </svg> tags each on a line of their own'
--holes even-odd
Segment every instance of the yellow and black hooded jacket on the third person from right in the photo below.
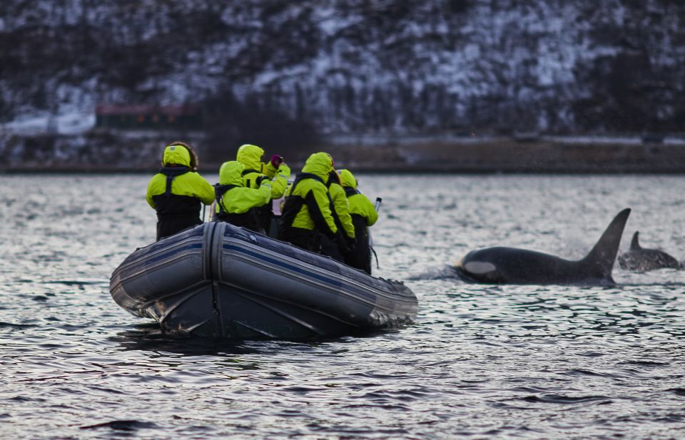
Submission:
<svg viewBox="0 0 685 440">
<path fill-rule="evenodd" d="M 333 160 L 328 153 L 309 156 L 302 173 L 298 174 L 286 193 L 281 227 L 316 228 L 332 240 L 335 239 L 338 227 L 330 211 L 330 198 L 325 185 L 331 170 Z"/>
</svg>

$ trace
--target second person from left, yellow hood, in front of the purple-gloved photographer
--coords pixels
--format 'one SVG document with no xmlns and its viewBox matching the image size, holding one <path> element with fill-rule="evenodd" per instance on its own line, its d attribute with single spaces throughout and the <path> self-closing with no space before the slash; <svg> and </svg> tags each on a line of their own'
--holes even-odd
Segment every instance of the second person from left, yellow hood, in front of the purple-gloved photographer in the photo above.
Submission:
<svg viewBox="0 0 685 440">
<path fill-rule="evenodd" d="M 264 232 L 253 208 L 271 200 L 271 180 L 263 178 L 259 188 L 243 186 L 245 166 L 237 160 L 224 162 L 219 169 L 219 183 L 214 186 L 216 195 L 215 220 Z"/>
</svg>

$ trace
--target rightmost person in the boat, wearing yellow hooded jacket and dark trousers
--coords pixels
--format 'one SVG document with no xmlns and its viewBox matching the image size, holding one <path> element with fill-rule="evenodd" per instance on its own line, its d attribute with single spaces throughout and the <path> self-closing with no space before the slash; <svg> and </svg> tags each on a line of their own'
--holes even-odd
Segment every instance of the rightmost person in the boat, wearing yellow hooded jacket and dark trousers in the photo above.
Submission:
<svg viewBox="0 0 685 440">
<path fill-rule="evenodd" d="M 355 225 L 355 246 L 345 255 L 345 263 L 371 274 L 371 248 L 369 227 L 378 220 L 378 213 L 369 198 L 357 190 L 357 179 L 350 170 L 338 170 L 340 183 L 345 189 L 347 203 L 350 204 L 350 217 Z"/>
</svg>

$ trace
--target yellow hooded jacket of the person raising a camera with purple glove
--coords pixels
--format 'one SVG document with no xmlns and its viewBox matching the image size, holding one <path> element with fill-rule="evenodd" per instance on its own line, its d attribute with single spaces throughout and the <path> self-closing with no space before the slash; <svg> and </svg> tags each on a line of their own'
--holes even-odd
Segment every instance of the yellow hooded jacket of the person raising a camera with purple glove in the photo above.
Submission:
<svg viewBox="0 0 685 440">
<path fill-rule="evenodd" d="M 271 162 L 264 164 L 261 161 L 263 155 L 264 150 L 257 145 L 245 144 L 238 148 L 235 160 L 245 165 L 245 170 L 243 170 L 243 186 L 245 188 L 259 188 L 260 177 L 265 175 L 272 180 L 270 198 L 282 198 L 285 190 L 288 188 L 290 168 L 285 163 L 281 163 L 278 169 L 274 168 Z"/>
</svg>

